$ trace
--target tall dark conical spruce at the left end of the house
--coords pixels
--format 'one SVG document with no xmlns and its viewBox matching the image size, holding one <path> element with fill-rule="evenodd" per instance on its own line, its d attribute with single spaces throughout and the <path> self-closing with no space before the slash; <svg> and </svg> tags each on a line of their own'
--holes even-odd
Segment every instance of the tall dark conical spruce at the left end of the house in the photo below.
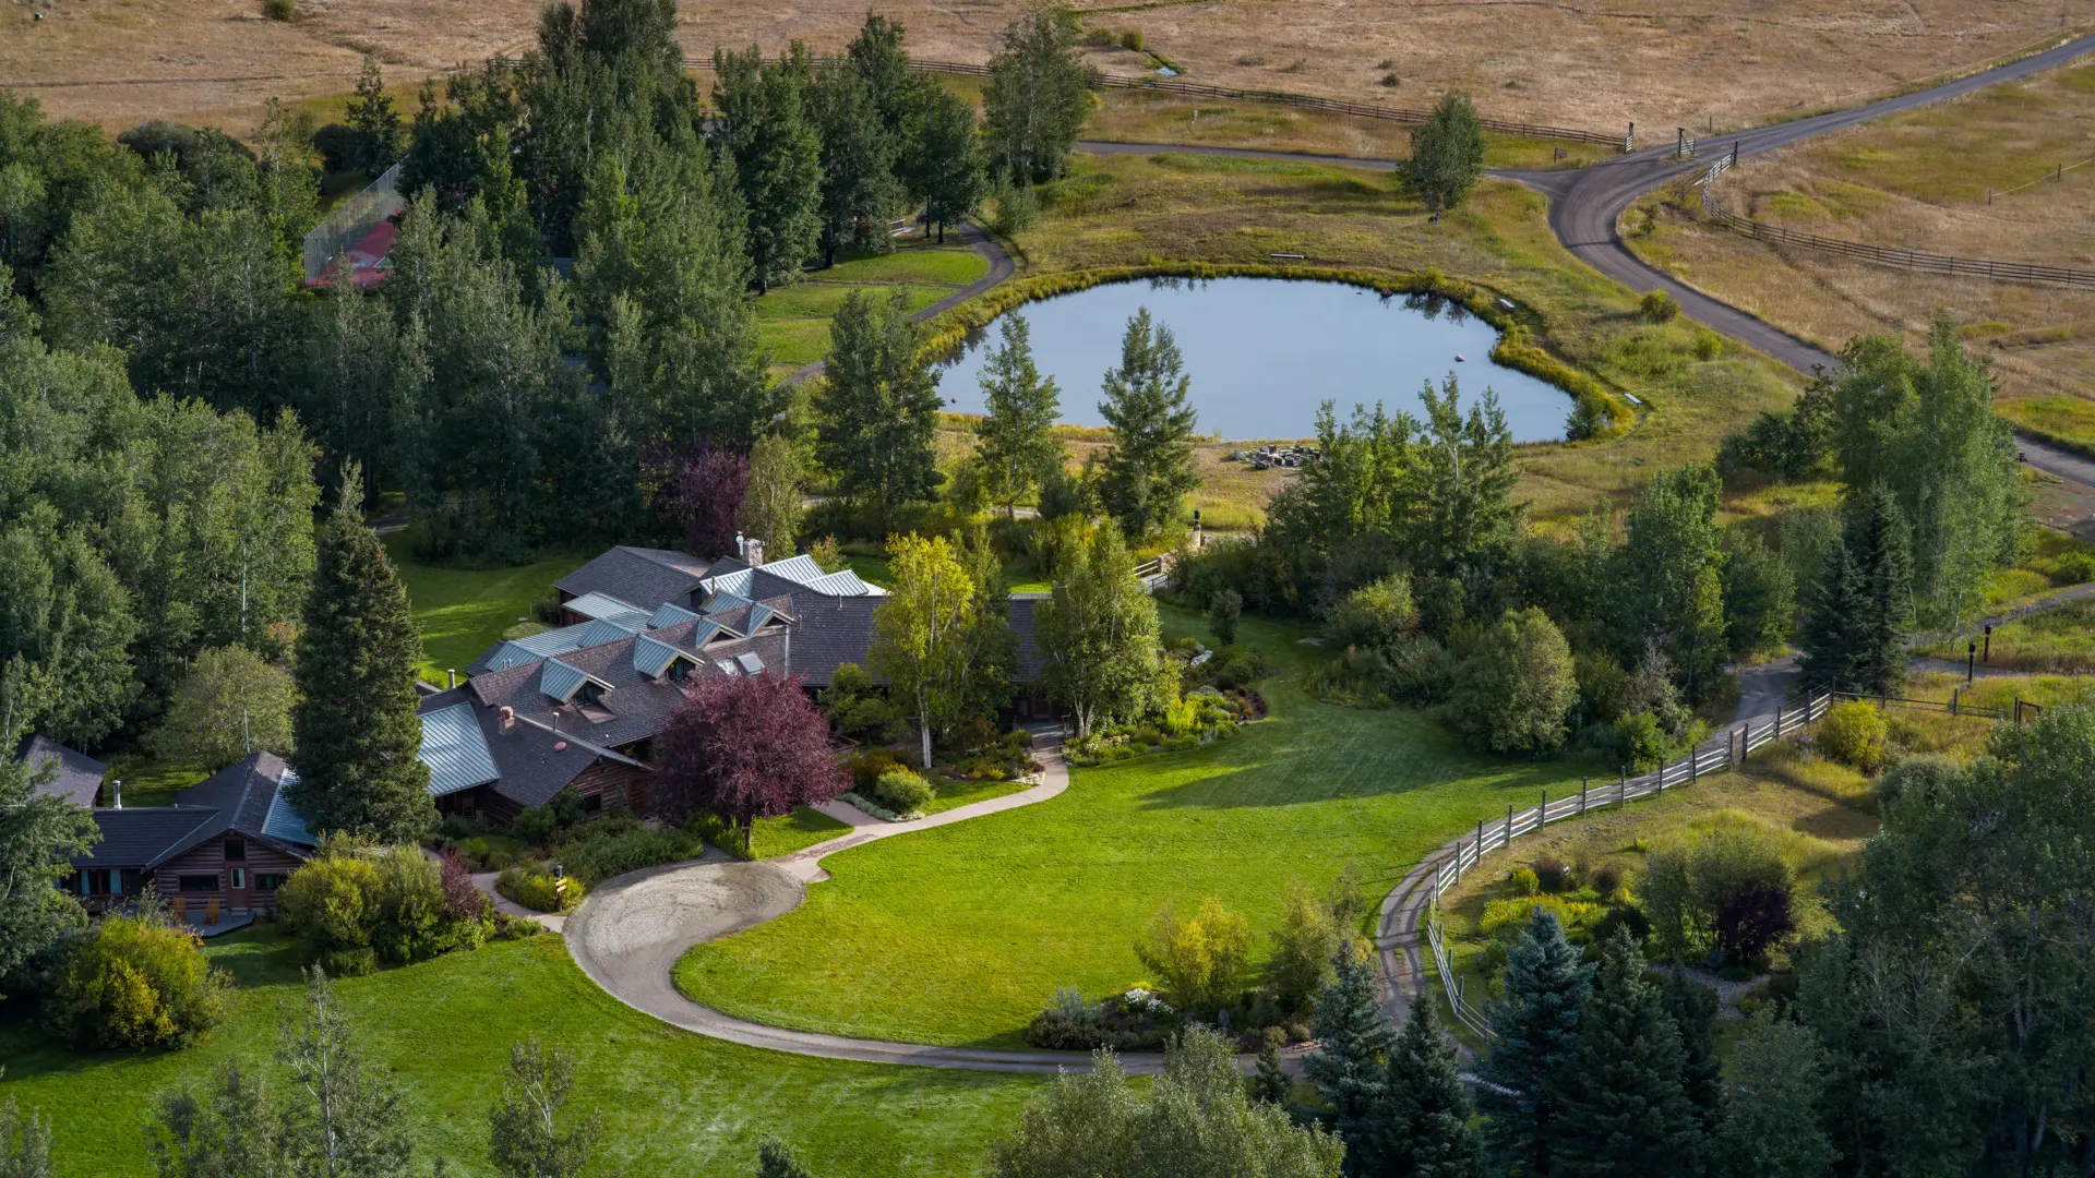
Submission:
<svg viewBox="0 0 2095 1178">
<path fill-rule="evenodd" d="M 415 838 L 436 822 L 417 761 L 415 667 L 421 635 L 385 545 L 365 524 L 362 472 L 344 470 L 335 511 L 316 528 L 318 566 L 297 639 L 293 801 L 314 830 Z"/>
</svg>

